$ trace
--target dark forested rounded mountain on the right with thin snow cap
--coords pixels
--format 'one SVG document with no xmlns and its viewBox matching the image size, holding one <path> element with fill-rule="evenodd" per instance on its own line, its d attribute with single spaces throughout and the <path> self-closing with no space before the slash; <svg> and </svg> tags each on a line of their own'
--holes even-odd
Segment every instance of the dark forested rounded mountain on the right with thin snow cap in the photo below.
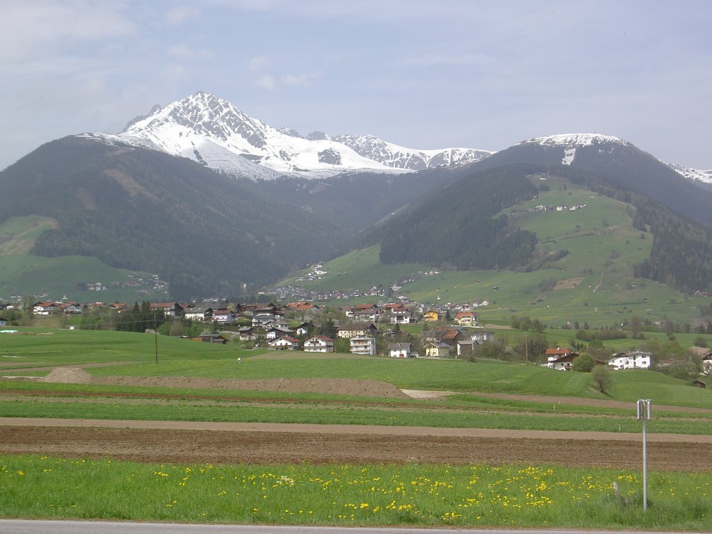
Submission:
<svg viewBox="0 0 712 534">
<path fill-rule="evenodd" d="M 559 187 L 578 184 L 629 204 L 632 226 L 653 234 L 649 256 L 629 265 L 631 276 L 669 283 L 686 293 L 712 288 L 712 195 L 629 142 L 600 135 L 538 138 L 468 169 L 471 176 L 371 234 L 366 242 L 380 241 L 382 261 L 458 269 L 540 268 L 550 257 L 534 254 L 531 237 L 517 221 L 492 217 L 525 194 L 533 197 L 534 184 L 546 189 L 555 179 Z M 542 237 L 534 242 L 541 245 Z"/>
</svg>

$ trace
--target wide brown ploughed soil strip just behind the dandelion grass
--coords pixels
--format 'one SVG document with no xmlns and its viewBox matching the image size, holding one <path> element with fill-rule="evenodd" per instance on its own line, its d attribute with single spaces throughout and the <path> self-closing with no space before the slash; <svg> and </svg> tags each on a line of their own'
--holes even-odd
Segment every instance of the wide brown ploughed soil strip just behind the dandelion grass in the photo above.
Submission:
<svg viewBox="0 0 712 534">
<path fill-rule="evenodd" d="M 712 436 L 651 434 L 649 467 L 712 471 Z M 208 422 L 0 419 L 0 454 L 190 464 L 563 464 L 639 468 L 637 434 Z"/>
</svg>

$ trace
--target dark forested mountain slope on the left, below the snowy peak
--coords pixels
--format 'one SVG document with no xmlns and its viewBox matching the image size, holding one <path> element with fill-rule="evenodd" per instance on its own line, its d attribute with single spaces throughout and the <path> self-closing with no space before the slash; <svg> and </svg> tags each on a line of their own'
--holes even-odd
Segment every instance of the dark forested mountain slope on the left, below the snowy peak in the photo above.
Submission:
<svg viewBox="0 0 712 534">
<path fill-rule="evenodd" d="M 266 283 L 352 235 L 187 159 L 79 137 L 43 145 L 8 167 L 0 188 L 0 220 L 58 221 L 31 253 L 94 256 L 160 273 L 174 298 Z"/>
</svg>

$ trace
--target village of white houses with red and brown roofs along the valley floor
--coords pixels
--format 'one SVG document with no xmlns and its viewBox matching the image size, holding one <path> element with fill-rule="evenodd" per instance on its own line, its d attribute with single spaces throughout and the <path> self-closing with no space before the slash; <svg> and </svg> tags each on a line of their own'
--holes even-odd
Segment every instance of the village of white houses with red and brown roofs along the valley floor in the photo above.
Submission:
<svg viewBox="0 0 712 534">
<path fill-rule="evenodd" d="M 159 322 L 187 322 L 205 325 L 202 333 L 184 335 L 189 340 L 226 344 L 243 342 L 246 347 L 280 351 L 350 352 L 354 355 L 381 355 L 394 358 L 461 358 L 476 361 L 487 344 L 498 341 L 491 328 L 478 323 L 473 303 L 447 304 L 438 310 L 417 303 L 370 303 L 344 307 L 320 306 L 308 300 L 278 305 L 266 303 L 146 303 L 154 325 Z M 478 303 L 481 305 L 482 303 Z M 13 305 L 2 305 L 0 314 Z M 38 301 L 32 315 L 62 318 L 64 328 L 77 328 L 68 318 L 132 312 L 124 303 Z M 150 324 L 150 321 L 149 321 Z M 412 325 L 418 325 L 417 331 Z M 0 315 L 0 327 L 9 321 Z M 411 328 L 407 328 L 411 327 Z M 693 347 L 701 360 L 703 375 L 712 372 L 712 351 Z M 527 363 L 530 355 L 526 355 Z M 577 370 L 580 353 L 570 347 L 548 347 L 543 355 L 531 355 L 532 365 L 552 370 Z M 586 356 L 590 358 L 589 356 Z M 582 361 L 582 360 L 581 360 Z M 654 364 L 651 352 L 629 350 L 597 357 L 591 365 L 610 370 L 646 370 L 683 364 L 684 360 L 664 358 Z M 703 382 L 702 382 L 703 383 Z"/>
</svg>

